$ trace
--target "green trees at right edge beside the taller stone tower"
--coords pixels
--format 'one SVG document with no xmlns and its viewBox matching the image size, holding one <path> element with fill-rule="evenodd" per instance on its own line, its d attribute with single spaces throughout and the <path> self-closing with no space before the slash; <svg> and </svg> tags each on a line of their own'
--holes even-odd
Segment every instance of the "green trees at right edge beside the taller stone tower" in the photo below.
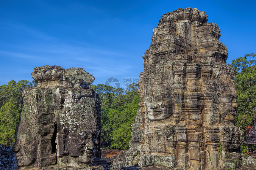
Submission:
<svg viewBox="0 0 256 170">
<path fill-rule="evenodd" d="M 253 60 L 255 56 L 254 53 L 246 54 L 232 60 L 231 64 L 238 93 L 235 125 L 240 126 L 243 131 L 246 130 L 246 125 L 253 124 L 253 118 L 256 116 L 256 60 Z"/>
</svg>

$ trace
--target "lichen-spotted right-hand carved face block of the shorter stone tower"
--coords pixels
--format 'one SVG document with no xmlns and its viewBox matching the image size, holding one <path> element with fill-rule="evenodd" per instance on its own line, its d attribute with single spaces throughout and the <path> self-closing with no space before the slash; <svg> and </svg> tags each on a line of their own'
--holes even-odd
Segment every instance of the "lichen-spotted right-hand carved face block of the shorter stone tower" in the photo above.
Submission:
<svg viewBox="0 0 256 170">
<path fill-rule="evenodd" d="M 100 159 L 99 96 L 93 90 L 82 88 L 57 88 L 53 96 L 60 129 L 56 139 L 58 164 L 92 165 Z"/>
</svg>

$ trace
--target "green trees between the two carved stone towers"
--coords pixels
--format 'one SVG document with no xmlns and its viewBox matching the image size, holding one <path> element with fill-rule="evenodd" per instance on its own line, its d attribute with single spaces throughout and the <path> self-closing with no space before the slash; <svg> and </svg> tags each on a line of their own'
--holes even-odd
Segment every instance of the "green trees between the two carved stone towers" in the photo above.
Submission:
<svg viewBox="0 0 256 170">
<path fill-rule="evenodd" d="M 131 139 L 131 124 L 139 106 L 138 84 L 126 90 L 103 84 L 90 85 L 101 100 L 102 144 L 104 147 L 128 149 Z"/>
</svg>

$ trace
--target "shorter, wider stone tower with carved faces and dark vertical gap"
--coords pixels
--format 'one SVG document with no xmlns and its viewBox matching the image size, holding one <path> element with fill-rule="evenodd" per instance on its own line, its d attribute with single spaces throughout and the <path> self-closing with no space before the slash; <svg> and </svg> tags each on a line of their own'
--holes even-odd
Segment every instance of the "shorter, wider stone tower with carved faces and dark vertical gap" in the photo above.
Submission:
<svg viewBox="0 0 256 170">
<path fill-rule="evenodd" d="M 17 165 L 88 167 L 101 158 L 99 95 L 84 68 L 36 67 L 36 88 L 22 93 L 15 132 Z"/>
</svg>

